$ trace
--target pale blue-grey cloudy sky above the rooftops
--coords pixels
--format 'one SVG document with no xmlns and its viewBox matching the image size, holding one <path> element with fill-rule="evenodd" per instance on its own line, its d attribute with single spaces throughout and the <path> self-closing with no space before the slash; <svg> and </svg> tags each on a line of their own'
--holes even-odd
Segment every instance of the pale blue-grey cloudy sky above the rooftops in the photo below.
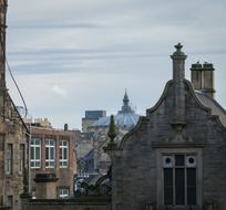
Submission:
<svg viewBox="0 0 226 210">
<path fill-rule="evenodd" d="M 145 115 L 172 78 L 181 42 L 192 63 L 215 66 L 226 108 L 225 0 L 9 0 L 7 59 L 29 115 L 81 128 L 86 109 L 115 114 L 127 90 Z M 22 105 L 7 75 L 9 92 Z"/>
</svg>

